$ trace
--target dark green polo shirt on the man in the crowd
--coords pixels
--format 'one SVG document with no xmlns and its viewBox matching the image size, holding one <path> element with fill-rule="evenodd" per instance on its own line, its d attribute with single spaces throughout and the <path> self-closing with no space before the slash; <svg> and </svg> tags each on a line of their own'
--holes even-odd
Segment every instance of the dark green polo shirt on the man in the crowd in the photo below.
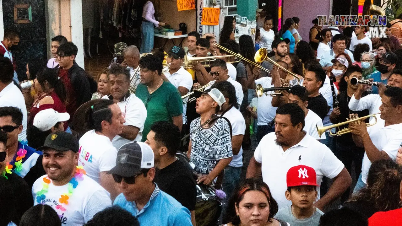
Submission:
<svg viewBox="0 0 402 226">
<path fill-rule="evenodd" d="M 172 117 L 183 114 L 183 102 L 180 93 L 170 82 L 164 81 L 152 94 L 148 92 L 146 85 L 139 84 L 135 91 L 135 96 L 144 103 L 147 109 L 147 119 L 142 131 L 142 142 L 147 140 L 147 135 L 154 122 L 172 122 Z"/>
</svg>

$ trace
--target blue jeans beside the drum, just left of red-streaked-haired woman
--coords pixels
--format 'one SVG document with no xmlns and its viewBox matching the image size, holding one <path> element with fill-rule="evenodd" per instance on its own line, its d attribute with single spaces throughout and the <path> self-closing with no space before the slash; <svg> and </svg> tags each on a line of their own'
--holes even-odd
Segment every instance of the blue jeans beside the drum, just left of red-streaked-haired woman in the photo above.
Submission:
<svg viewBox="0 0 402 226">
<path fill-rule="evenodd" d="M 226 193 L 224 205 L 222 206 L 222 216 L 225 219 L 225 213 L 229 205 L 229 199 L 233 195 L 234 189 L 240 183 L 240 175 L 242 174 L 242 167 L 226 166 L 224 170 L 224 177 L 222 179 L 222 189 Z"/>
</svg>

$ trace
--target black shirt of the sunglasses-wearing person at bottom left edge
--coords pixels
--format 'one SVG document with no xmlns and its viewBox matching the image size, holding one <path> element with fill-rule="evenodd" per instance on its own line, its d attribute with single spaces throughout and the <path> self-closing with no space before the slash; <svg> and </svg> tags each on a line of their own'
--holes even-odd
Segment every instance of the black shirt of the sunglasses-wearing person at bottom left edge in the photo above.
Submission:
<svg viewBox="0 0 402 226">
<path fill-rule="evenodd" d="M 24 179 L 15 173 L 6 176 L 8 179 L 0 176 L 0 216 L 6 213 L 7 220 L 18 224 L 25 211 L 33 206 L 33 197 Z"/>
</svg>

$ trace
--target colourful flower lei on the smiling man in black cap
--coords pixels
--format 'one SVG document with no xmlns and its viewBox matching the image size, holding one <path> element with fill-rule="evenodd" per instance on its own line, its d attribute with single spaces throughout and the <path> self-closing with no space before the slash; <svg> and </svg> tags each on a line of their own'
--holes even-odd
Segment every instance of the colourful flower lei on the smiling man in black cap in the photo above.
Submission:
<svg viewBox="0 0 402 226">
<path fill-rule="evenodd" d="M 60 204 L 56 205 L 57 210 L 60 210 L 62 212 L 66 211 L 66 208 L 62 204 L 68 205 L 68 199 L 73 194 L 74 189 L 76 189 L 76 187 L 78 186 L 78 181 L 84 180 L 83 175 L 86 175 L 84 167 L 76 166 L 76 173 L 74 174 L 74 177 L 70 180 L 70 182 L 68 182 L 68 186 L 67 186 L 68 192 L 60 195 L 60 198 L 59 198 Z M 41 203 L 43 200 L 46 199 L 45 194 L 49 191 L 50 182 L 51 182 L 51 180 L 49 179 L 49 177 L 46 176 L 43 178 L 43 183 L 42 183 L 43 188 L 36 193 L 37 203 Z"/>
</svg>

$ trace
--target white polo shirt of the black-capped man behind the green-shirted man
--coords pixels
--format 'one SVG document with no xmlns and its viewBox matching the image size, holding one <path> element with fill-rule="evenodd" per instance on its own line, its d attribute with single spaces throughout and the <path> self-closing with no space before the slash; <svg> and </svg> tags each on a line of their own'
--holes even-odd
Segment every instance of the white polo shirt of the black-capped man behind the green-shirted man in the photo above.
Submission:
<svg viewBox="0 0 402 226">
<path fill-rule="evenodd" d="M 185 70 L 183 67 L 180 67 L 180 69 L 173 74 L 170 74 L 170 72 L 166 72 L 165 76 L 166 78 L 168 78 L 169 82 L 172 83 L 172 85 L 174 85 L 174 87 L 176 88 L 178 88 L 179 86 L 183 86 L 187 88 L 190 92 L 191 87 L 193 87 L 193 77 L 191 76 L 190 72 Z M 183 104 L 183 124 L 187 124 L 186 112 L 187 103 Z"/>
</svg>

